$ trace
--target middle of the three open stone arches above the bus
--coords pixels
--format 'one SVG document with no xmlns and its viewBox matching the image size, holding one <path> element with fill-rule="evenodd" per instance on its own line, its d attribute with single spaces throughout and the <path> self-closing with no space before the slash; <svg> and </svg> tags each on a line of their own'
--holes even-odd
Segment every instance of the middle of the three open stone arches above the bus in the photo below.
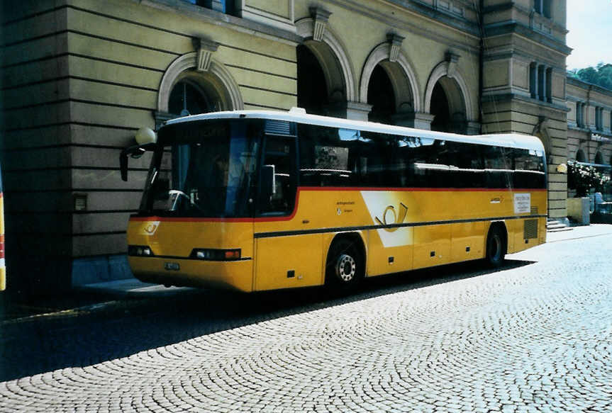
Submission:
<svg viewBox="0 0 612 413">
<path fill-rule="evenodd" d="M 421 100 L 419 97 L 421 94 L 418 90 L 418 81 L 412 65 L 401 51 L 395 62 L 389 60 L 390 55 L 390 43 L 382 43 L 370 52 L 362 69 L 359 88 L 360 102 L 367 103 L 369 80 L 374 68 L 380 64 L 394 86 L 396 110 L 398 112 L 420 112 Z"/>
</svg>

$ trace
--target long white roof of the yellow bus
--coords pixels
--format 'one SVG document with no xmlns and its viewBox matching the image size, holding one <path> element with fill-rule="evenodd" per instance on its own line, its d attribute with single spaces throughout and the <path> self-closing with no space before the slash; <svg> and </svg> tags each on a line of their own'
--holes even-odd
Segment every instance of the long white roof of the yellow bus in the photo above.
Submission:
<svg viewBox="0 0 612 413">
<path fill-rule="evenodd" d="M 518 133 L 501 133 L 491 135 L 459 135 L 456 133 L 434 132 L 431 130 L 405 128 L 403 126 L 385 125 L 383 123 L 365 122 L 362 120 L 349 120 L 343 118 L 330 118 L 328 116 L 308 115 L 303 111 L 226 111 L 202 113 L 176 118 L 167 121 L 167 125 L 176 123 L 188 123 L 198 120 L 213 119 L 271 119 L 284 120 L 287 122 L 306 123 L 308 125 L 328 126 L 333 128 L 345 128 L 365 130 L 368 132 L 387 133 L 389 135 L 403 135 L 423 137 L 430 139 L 443 139 L 455 142 L 467 142 L 480 145 L 494 145 L 502 147 L 516 147 L 521 149 L 535 149 L 544 151 L 544 146 L 535 136 L 521 135 Z"/>
</svg>

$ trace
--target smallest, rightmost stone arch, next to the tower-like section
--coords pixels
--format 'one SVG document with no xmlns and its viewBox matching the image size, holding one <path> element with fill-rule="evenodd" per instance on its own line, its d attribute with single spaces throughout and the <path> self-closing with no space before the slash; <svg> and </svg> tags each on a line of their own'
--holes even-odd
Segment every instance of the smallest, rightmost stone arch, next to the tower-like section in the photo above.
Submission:
<svg viewBox="0 0 612 413">
<path fill-rule="evenodd" d="M 431 113 L 431 96 L 438 82 L 447 96 L 450 115 L 454 117 L 455 114 L 462 114 L 466 121 L 473 121 L 475 111 L 467 83 L 457 68 L 447 61 L 440 62 L 429 75 L 423 96 L 423 110 Z"/>
</svg>

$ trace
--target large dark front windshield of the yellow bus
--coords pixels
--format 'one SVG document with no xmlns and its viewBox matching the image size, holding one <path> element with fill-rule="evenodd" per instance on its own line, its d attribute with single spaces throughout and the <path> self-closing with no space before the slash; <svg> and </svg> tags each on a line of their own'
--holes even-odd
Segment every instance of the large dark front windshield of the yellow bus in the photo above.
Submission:
<svg viewBox="0 0 612 413">
<path fill-rule="evenodd" d="M 149 170 L 142 213 L 252 217 L 260 139 L 235 120 L 168 125 Z"/>
</svg>

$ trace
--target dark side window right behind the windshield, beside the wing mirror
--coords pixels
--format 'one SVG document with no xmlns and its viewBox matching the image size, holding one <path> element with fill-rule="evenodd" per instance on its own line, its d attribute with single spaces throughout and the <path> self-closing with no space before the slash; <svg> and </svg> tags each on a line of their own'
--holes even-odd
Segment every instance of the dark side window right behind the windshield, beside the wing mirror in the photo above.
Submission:
<svg viewBox="0 0 612 413">
<path fill-rule="evenodd" d="M 296 195 L 295 139 L 268 136 L 262 165 L 272 168 L 274 176 L 273 188 L 260 188 L 260 215 L 289 215 Z"/>
</svg>

